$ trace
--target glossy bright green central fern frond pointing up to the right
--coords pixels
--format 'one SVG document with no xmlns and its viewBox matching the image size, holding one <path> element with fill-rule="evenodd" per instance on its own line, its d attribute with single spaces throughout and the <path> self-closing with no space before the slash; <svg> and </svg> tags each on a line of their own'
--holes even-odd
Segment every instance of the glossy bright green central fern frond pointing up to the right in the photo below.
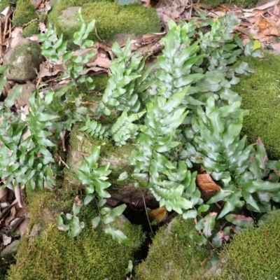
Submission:
<svg viewBox="0 0 280 280">
<path fill-rule="evenodd" d="M 140 126 L 141 134 L 137 137 L 139 145 L 130 158 L 131 164 L 136 165 L 133 178 L 141 180 L 141 186 L 151 190 L 160 207 L 165 206 L 168 211 L 174 210 L 179 214 L 193 207 L 193 202 L 183 195 L 190 181 L 181 183 L 186 172 L 179 172 L 181 169 L 176 169 L 163 153 L 180 144 L 172 141 L 172 137 L 188 113 L 186 107 L 177 108 L 186 90 L 188 88 L 168 100 L 163 94 L 158 94 L 153 103 L 146 105 L 145 125 Z"/>
</svg>

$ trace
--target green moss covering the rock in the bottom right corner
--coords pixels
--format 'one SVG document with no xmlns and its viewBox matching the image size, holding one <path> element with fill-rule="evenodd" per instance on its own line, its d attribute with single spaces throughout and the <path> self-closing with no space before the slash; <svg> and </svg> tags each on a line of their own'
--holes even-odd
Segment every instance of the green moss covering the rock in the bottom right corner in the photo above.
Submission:
<svg viewBox="0 0 280 280">
<path fill-rule="evenodd" d="M 280 216 L 235 235 L 221 252 L 221 279 L 272 280 L 280 275 Z"/>
</svg>

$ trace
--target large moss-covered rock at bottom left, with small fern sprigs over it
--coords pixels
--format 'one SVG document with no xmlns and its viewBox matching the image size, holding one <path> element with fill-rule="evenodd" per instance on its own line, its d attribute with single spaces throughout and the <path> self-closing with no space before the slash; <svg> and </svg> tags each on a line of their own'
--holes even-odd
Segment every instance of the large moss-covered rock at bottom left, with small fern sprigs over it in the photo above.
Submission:
<svg viewBox="0 0 280 280">
<path fill-rule="evenodd" d="M 37 237 L 31 235 L 34 231 L 30 226 L 27 237 L 21 239 L 17 262 L 11 266 L 8 280 L 125 279 L 128 260 L 133 260 L 134 251 L 144 238 L 141 227 L 122 223 L 121 230 L 134 244 L 132 247 L 120 245 L 104 234 L 102 226 L 92 230 L 91 219 L 97 216 L 97 209 L 91 204 L 82 207 L 79 215 L 80 221 L 85 222 L 85 229 L 71 239 L 66 232 L 57 230 L 52 220 L 60 211 L 71 211 L 70 204 L 73 204 L 73 196 L 63 188 L 32 195 L 30 223 L 31 226 L 40 225 L 33 233 Z"/>
</svg>

